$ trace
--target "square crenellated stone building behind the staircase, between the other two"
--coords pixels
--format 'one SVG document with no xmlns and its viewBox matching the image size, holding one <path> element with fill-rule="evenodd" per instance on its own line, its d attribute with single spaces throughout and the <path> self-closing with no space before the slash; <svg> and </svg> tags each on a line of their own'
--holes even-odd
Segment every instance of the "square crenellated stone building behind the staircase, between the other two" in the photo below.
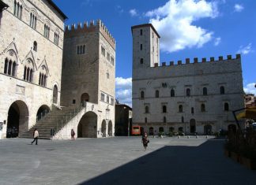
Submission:
<svg viewBox="0 0 256 185">
<path fill-rule="evenodd" d="M 93 105 L 73 124 L 78 137 L 115 131 L 115 39 L 101 22 L 66 27 L 62 64 L 64 106 Z"/>
</svg>

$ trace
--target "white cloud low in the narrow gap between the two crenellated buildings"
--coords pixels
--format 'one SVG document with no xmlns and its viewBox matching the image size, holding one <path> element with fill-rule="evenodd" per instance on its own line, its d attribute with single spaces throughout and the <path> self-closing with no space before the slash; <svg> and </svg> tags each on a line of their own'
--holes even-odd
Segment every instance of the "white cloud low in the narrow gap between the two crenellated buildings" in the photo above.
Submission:
<svg viewBox="0 0 256 185">
<path fill-rule="evenodd" d="M 115 78 L 115 98 L 119 103 L 132 106 L 132 78 Z"/>
</svg>

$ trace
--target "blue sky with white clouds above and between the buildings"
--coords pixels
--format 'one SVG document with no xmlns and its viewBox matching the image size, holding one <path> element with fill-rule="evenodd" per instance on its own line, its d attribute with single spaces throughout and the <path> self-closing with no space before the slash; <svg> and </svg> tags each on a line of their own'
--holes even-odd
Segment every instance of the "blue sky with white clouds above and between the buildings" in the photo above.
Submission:
<svg viewBox="0 0 256 185">
<path fill-rule="evenodd" d="M 116 98 L 131 105 L 130 27 L 152 23 L 159 32 L 160 61 L 242 55 L 243 87 L 256 94 L 254 0 L 54 0 L 66 24 L 103 20 L 116 40 Z"/>
</svg>

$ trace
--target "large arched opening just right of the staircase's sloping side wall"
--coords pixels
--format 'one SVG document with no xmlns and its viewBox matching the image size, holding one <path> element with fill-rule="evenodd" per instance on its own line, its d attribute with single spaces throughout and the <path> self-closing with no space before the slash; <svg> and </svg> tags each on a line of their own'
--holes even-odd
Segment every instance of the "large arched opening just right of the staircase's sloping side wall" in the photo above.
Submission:
<svg viewBox="0 0 256 185">
<path fill-rule="evenodd" d="M 78 138 L 96 138 L 97 137 L 97 115 L 92 111 L 85 113 L 77 126 Z"/>
</svg>

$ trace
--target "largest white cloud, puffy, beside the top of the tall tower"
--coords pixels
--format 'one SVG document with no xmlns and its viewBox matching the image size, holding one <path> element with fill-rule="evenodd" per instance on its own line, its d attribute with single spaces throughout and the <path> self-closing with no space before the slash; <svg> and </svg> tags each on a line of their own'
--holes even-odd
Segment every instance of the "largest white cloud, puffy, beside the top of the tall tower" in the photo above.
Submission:
<svg viewBox="0 0 256 185">
<path fill-rule="evenodd" d="M 145 13 L 161 36 L 160 47 L 166 52 L 186 47 L 201 47 L 213 38 L 213 31 L 194 25 L 201 18 L 219 15 L 216 2 L 205 0 L 169 0 L 164 6 Z"/>
</svg>

